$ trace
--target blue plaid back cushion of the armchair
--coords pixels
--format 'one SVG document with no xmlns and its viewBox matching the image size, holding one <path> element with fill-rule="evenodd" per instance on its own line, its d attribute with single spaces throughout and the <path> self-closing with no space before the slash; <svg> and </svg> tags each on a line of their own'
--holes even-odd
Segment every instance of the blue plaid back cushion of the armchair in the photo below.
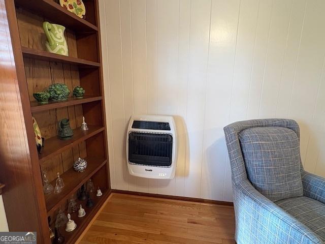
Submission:
<svg viewBox="0 0 325 244">
<path fill-rule="evenodd" d="M 248 179 L 272 201 L 303 195 L 299 138 L 285 127 L 253 127 L 238 134 Z"/>
</svg>

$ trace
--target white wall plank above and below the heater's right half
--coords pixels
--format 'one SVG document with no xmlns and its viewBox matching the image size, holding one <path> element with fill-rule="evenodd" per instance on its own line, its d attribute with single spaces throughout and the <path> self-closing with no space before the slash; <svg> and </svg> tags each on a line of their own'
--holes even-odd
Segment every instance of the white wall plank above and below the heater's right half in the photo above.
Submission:
<svg viewBox="0 0 325 244">
<path fill-rule="evenodd" d="M 177 114 L 179 1 L 157 0 L 157 113 Z M 175 178 L 156 180 L 158 194 L 175 195 Z"/>
</svg>

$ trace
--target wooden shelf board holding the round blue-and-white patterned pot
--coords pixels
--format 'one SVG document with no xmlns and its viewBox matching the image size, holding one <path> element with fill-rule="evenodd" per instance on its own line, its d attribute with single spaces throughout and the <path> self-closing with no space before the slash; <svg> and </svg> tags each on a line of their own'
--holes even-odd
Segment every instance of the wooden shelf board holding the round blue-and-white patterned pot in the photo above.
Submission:
<svg viewBox="0 0 325 244">
<path fill-rule="evenodd" d="M 64 187 L 59 194 L 45 196 L 47 215 L 50 216 L 61 204 L 70 198 L 92 175 L 102 168 L 107 160 L 101 158 L 87 157 L 87 168 L 83 172 L 76 172 L 73 168 L 64 172 L 60 177 L 63 179 Z M 55 186 L 54 179 L 51 184 Z"/>
</svg>

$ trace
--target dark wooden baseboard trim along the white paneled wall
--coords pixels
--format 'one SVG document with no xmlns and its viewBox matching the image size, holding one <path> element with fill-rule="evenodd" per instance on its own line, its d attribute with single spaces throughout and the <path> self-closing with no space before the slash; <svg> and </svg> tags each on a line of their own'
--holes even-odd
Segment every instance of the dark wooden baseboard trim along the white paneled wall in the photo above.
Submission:
<svg viewBox="0 0 325 244">
<path fill-rule="evenodd" d="M 172 199 L 172 200 L 182 200 L 182 201 L 190 201 L 190 202 L 203 202 L 203 203 L 211 203 L 211 204 L 217 204 L 217 205 L 234 206 L 233 202 L 208 200 L 208 199 L 202 199 L 202 198 L 179 197 L 179 196 L 160 195 L 160 194 L 143 193 L 143 192 L 131 192 L 131 191 L 124 191 L 124 190 L 116 190 L 116 189 L 112 189 L 112 192 L 113 193 L 144 196 L 144 197 L 158 197 L 158 198 L 166 198 L 166 199 Z"/>
</svg>

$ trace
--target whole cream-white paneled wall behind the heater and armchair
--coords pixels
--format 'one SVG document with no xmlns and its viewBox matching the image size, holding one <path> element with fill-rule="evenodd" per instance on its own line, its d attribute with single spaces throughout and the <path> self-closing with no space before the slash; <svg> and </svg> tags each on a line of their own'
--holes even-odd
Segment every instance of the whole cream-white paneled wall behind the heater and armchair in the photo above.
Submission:
<svg viewBox="0 0 325 244">
<path fill-rule="evenodd" d="M 308 171 L 325 176 L 323 0 L 101 0 L 113 189 L 232 201 L 223 127 L 294 118 Z M 171 114 L 176 177 L 128 174 L 133 113 Z"/>
</svg>

